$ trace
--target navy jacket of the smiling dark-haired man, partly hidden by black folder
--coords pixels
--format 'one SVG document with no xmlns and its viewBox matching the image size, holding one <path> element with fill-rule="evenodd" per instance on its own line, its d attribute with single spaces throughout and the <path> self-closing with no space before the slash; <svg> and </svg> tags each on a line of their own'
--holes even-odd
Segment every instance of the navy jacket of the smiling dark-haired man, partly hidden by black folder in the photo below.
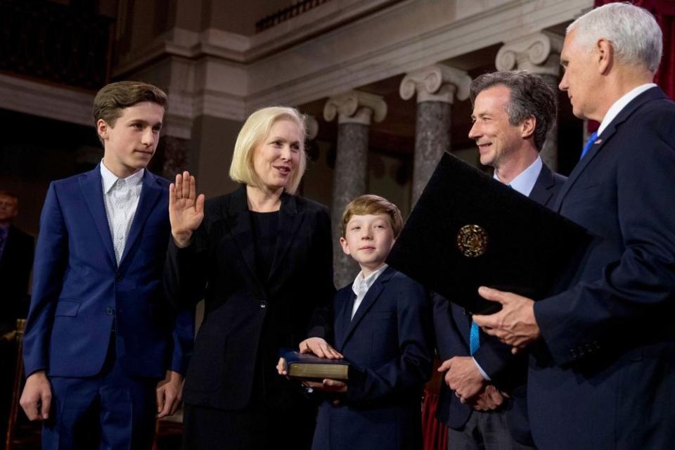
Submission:
<svg viewBox="0 0 675 450">
<path fill-rule="evenodd" d="M 529 198 L 536 203 L 550 207 L 555 195 L 565 183 L 565 177 L 541 167 Z M 434 303 L 434 325 L 439 358 L 442 361 L 453 356 L 469 356 L 469 333 L 471 316 L 461 307 L 440 295 L 432 296 Z M 532 444 L 527 420 L 525 381 L 527 380 L 527 355 L 511 354 L 511 347 L 504 345 L 480 331 L 481 345 L 473 355 L 480 367 L 487 373 L 500 390 L 509 392 L 511 399 L 497 412 L 506 413 L 510 432 L 522 444 Z M 473 408 L 463 404 L 450 388 L 442 383 L 437 408 L 437 418 L 450 428 L 461 428 L 468 420 Z"/>
</svg>

